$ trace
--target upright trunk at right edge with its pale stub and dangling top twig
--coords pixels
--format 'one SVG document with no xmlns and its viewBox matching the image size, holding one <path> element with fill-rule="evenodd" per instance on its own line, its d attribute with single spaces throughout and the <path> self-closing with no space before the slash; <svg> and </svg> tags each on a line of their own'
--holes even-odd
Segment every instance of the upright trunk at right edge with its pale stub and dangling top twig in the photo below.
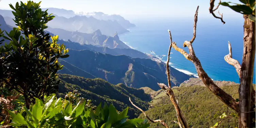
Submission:
<svg viewBox="0 0 256 128">
<path fill-rule="evenodd" d="M 212 9 L 214 6 L 214 1 L 215 0 L 210 0 L 210 13 L 213 12 Z M 214 14 L 212 15 L 214 16 Z M 235 67 L 237 74 L 240 78 L 240 85 L 238 90 L 239 103 L 237 108 L 239 116 L 239 128 L 251 128 L 253 127 L 253 117 L 255 117 L 255 90 L 252 86 L 254 70 L 253 66 L 255 61 L 255 22 L 251 21 L 248 18 L 248 15 L 243 15 L 243 18 L 244 36 L 242 65 L 240 65 L 237 60 L 232 58 L 231 44 L 229 42 L 229 54 L 226 55 L 224 59 L 228 64 Z M 222 15 L 219 19 L 221 19 L 221 21 L 223 22 Z"/>
</svg>

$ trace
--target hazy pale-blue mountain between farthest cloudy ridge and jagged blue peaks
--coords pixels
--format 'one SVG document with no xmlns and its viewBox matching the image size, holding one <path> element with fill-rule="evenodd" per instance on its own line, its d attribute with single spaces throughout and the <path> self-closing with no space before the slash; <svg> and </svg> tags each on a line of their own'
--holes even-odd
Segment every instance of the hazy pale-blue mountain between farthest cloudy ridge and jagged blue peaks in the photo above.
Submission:
<svg viewBox="0 0 256 128">
<path fill-rule="evenodd" d="M 78 31 L 83 33 L 93 33 L 100 29 L 104 35 L 113 35 L 114 33 L 129 32 L 123 28 L 117 21 L 98 20 L 93 17 L 74 16 L 65 18 L 55 15 L 55 18 L 47 23 L 51 28 L 61 28 L 67 31 Z"/>
</svg>

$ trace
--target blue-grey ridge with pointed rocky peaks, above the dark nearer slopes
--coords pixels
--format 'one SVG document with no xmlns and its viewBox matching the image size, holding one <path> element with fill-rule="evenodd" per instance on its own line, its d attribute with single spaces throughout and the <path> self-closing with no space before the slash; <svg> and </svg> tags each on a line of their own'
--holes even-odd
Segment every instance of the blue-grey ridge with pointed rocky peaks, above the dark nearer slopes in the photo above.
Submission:
<svg viewBox="0 0 256 128">
<path fill-rule="evenodd" d="M 107 36 L 101 33 L 101 31 L 98 29 L 93 33 L 82 33 L 82 32 L 71 32 L 66 31 L 63 29 L 58 28 L 51 28 L 48 27 L 46 29 L 47 31 L 58 35 L 61 39 L 64 41 L 70 41 L 77 42 L 81 45 L 98 45 L 102 47 L 108 47 L 108 48 L 130 48 L 127 46 L 124 42 L 122 42 L 117 33 L 113 37 Z"/>
</svg>

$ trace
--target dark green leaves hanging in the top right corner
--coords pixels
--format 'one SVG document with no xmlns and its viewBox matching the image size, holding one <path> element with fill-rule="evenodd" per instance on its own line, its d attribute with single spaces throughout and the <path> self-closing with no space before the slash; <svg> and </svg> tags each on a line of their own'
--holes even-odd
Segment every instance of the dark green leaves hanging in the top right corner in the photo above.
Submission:
<svg viewBox="0 0 256 128">
<path fill-rule="evenodd" d="M 230 9 L 245 15 L 249 15 L 249 19 L 255 22 L 255 0 L 239 0 L 243 4 L 236 4 L 232 2 L 221 2 L 223 6 L 228 6 Z M 235 4 L 235 5 L 229 5 Z"/>
</svg>

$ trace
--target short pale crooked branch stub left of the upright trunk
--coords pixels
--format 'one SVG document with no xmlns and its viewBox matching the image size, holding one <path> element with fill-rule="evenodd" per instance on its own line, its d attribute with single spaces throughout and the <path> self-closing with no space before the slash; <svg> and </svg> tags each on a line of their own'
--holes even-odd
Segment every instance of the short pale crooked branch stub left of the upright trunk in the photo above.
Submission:
<svg viewBox="0 0 256 128">
<path fill-rule="evenodd" d="M 227 55 L 224 57 L 224 60 L 225 60 L 228 64 L 233 65 L 233 66 L 235 67 L 235 69 L 236 69 L 236 71 L 237 71 L 237 74 L 238 74 L 238 76 L 239 76 L 239 78 L 240 78 L 240 74 L 241 74 L 241 65 L 240 65 L 240 63 L 239 63 L 237 60 L 235 60 L 235 59 L 232 58 L 232 49 L 231 49 L 231 44 L 230 44 L 230 42 L 228 42 L 228 49 L 229 49 L 229 54 L 227 54 Z"/>
</svg>

